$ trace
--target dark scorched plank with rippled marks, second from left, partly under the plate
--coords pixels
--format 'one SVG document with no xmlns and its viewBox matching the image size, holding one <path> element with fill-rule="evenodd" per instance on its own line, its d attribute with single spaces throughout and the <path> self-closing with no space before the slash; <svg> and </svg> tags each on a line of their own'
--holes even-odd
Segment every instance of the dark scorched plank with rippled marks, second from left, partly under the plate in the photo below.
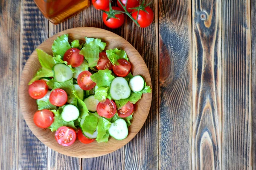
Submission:
<svg viewBox="0 0 256 170">
<path fill-rule="evenodd" d="M 35 48 L 48 37 L 48 20 L 33 0 L 21 0 L 20 74 Z M 17 57 L 18 58 L 18 57 Z M 20 112 L 19 169 L 47 169 L 47 146 L 29 130 Z"/>
</svg>

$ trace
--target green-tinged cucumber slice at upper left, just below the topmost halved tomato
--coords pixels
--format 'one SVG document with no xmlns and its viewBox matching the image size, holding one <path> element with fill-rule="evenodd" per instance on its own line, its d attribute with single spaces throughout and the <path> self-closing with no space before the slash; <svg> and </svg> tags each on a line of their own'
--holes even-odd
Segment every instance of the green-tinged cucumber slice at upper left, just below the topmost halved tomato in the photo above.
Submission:
<svg viewBox="0 0 256 170">
<path fill-rule="evenodd" d="M 70 67 L 63 63 L 55 64 L 53 66 L 53 72 L 57 82 L 65 82 L 73 77 Z"/>
</svg>

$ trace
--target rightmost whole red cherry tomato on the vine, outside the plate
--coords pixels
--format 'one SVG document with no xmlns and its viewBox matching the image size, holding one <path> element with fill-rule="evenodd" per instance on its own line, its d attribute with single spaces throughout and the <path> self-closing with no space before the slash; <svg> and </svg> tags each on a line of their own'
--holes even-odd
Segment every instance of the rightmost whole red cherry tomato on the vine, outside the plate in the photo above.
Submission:
<svg viewBox="0 0 256 170">
<path fill-rule="evenodd" d="M 147 12 L 140 10 L 139 16 L 138 16 L 138 23 L 140 24 L 141 28 L 145 28 L 145 27 L 149 26 L 153 22 L 153 19 L 154 19 L 154 13 L 153 13 L 152 9 L 149 6 L 147 6 L 145 8 L 145 10 Z M 135 10 L 133 10 L 133 11 L 134 12 L 131 14 L 131 16 L 134 18 L 134 20 L 136 20 L 138 11 L 135 11 Z"/>
</svg>

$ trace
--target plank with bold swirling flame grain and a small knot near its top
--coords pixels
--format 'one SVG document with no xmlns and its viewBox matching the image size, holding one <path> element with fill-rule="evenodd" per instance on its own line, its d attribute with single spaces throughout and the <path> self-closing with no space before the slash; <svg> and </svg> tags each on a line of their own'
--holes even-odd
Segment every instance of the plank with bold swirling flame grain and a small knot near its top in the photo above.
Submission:
<svg viewBox="0 0 256 170">
<path fill-rule="evenodd" d="M 221 1 L 193 0 L 192 169 L 221 169 Z"/>
</svg>

